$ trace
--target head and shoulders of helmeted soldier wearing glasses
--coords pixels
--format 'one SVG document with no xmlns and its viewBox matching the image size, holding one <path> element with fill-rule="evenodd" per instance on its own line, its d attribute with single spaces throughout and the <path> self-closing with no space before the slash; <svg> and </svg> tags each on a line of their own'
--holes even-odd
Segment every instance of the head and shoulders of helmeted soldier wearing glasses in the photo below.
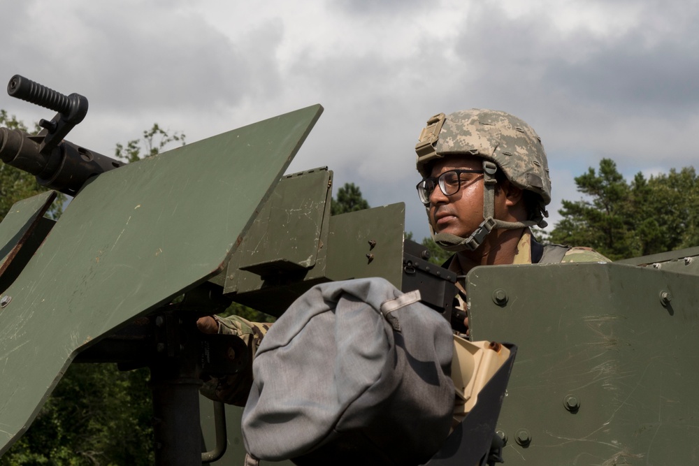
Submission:
<svg viewBox="0 0 699 466">
<path fill-rule="evenodd" d="M 496 110 L 440 113 L 420 134 L 417 193 L 433 240 L 454 254 L 464 276 L 476 265 L 609 261 L 586 247 L 543 246 L 551 180 L 541 139 L 521 119 Z M 463 281 L 459 308 L 465 310 Z M 468 328 L 468 318 L 466 319 Z"/>
</svg>

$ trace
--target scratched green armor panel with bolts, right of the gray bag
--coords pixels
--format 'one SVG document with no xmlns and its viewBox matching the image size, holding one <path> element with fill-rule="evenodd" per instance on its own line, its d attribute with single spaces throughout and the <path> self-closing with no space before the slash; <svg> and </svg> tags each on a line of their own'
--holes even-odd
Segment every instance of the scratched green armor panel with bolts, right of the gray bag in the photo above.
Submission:
<svg viewBox="0 0 699 466">
<path fill-rule="evenodd" d="M 507 293 L 503 306 L 496 289 Z M 505 464 L 697 463 L 699 276 L 616 263 L 503 265 L 471 270 L 466 291 L 473 339 L 519 347 L 498 421 Z M 579 400 L 575 414 L 568 395 Z M 526 448 L 520 429 L 531 436 Z"/>
</svg>

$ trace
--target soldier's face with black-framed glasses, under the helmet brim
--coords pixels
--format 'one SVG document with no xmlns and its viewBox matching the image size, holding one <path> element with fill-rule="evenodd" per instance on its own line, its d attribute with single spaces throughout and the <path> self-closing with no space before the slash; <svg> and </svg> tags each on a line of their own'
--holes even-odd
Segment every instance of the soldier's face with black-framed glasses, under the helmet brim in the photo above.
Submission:
<svg viewBox="0 0 699 466">
<path fill-rule="evenodd" d="M 449 156 L 437 161 L 431 177 L 438 177 L 449 170 L 482 170 L 483 161 L 473 156 Z M 445 196 L 440 187 L 430 195 L 429 218 L 435 233 L 452 233 L 466 238 L 483 221 L 483 175 L 464 174 L 461 189 Z"/>
</svg>

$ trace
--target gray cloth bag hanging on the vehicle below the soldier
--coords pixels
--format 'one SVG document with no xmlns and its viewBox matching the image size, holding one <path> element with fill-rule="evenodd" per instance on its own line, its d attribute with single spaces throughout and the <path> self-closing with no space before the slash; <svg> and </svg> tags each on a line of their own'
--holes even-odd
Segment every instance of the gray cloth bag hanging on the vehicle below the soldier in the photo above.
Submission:
<svg viewBox="0 0 699 466">
<path fill-rule="evenodd" d="M 452 330 L 382 278 L 314 286 L 257 350 L 243 412 L 255 458 L 416 465 L 449 435 Z"/>
</svg>

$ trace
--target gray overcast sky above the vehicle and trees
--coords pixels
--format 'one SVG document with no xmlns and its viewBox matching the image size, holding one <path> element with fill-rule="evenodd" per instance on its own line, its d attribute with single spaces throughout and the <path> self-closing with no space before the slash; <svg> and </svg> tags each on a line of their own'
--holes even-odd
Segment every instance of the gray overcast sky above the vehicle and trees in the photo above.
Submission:
<svg viewBox="0 0 699 466">
<path fill-rule="evenodd" d="M 554 201 L 603 157 L 627 178 L 696 163 L 696 0 L 3 1 L 0 82 L 89 99 L 69 140 L 106 155 L 158 122 L 188 142 L 321 103 L 290 171 L 329 166 L 370 205 L 415 193 L 426 119 L 467 108 L 531 124 Z M 0 94 L 25 122 L 49 110 Z"/>
</svg>

